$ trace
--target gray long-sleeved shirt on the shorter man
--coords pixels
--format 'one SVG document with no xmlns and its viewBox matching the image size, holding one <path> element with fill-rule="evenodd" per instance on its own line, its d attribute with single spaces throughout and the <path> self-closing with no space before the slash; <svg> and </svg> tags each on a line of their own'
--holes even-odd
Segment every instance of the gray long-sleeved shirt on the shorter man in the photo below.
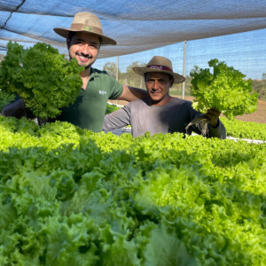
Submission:
<svg viewBox="0 0 266 266">
<path fill-rule="evenodd" d="M 152 106 L 149 99 L 138 99 L 130 102 L 120 110 L 105 116 L 104 130 L 120 129 L 131 125 L 133 137 L 143 136 L 149 131 L 151 135 L 157 133 L 187 133 L 192 131 L 200 134 L 200 129 L 194 126 L 186 131 L 185 127 L 195 117 L 201 115 L 192 108 L 192 102 L 174 98 L 165 106 Z M 208 125 L 207 137 L 226 137 L 223 123 L 219 120 L 218 126 L 212 128 Z"/>
</svg>

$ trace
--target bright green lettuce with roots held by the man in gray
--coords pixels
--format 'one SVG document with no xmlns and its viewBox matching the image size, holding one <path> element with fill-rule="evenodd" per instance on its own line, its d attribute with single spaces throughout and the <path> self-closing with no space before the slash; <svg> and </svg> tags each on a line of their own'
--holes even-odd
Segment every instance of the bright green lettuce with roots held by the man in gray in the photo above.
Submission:
<svg viewBox="0 0 266 266">
<path fill-rule="evenodd" d="M 194 109 L 207 113 L 207 109 L 217 108 L 229 119 L 256 111 L 258 95 L 252 91 L 252 81 L 244 80 L 245 74 L 218 59 L 208 61 L 208 66 L 213 73 L 209 68 L 191 72 Z"/>
</svg>

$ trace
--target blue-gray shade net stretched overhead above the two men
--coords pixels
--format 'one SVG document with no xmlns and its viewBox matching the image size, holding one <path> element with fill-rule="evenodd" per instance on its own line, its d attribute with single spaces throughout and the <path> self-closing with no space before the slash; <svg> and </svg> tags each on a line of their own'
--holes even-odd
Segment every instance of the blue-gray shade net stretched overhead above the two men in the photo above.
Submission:
<svg viewBox="0 0 266 266">
<path fill-rule="evenodd" d="M 66 39 L 54 27 L 69 28 L 77 12 L 91 12 L 104 35 L 98 58 L 148 51 L 190 40 L 266 28 L 266 1 L 0 1 L 0 54 L 9 41 L 25 48 L 49 43 L 67 54 Z"/>
</svg>

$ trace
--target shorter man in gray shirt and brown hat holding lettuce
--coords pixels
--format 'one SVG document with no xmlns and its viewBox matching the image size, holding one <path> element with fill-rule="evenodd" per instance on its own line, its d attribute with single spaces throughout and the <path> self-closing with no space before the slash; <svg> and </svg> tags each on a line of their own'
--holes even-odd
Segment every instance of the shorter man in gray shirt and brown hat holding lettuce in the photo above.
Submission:
<svg viewBox="0 0 266 266">
<path fill-rule="evenodd" d="M 187 125 L 200 112 L 192 108 L 192 102 L 169 95 L 173 83 L 184 82 L 184 76 L 172 70 L 170 60 L 154 56 L 145 67 L 134 67 L 133 70 L 145 76 L 145 87 L 150 98 L 130 102 L 118 111 L 109 113 L 105 117 L 103 129 L 120 129 L 131 125 L 133 137 L 143 136 L 149 131 L 151 135 L 157 133 L 187 133 L 192 131 L 201 134 L 200 129 Z M 205 113 L 207 117 L 207 137 L 226 137 L 226 130 L 219 120 L 220 112 L 211 108 Z"/>
</svg>

